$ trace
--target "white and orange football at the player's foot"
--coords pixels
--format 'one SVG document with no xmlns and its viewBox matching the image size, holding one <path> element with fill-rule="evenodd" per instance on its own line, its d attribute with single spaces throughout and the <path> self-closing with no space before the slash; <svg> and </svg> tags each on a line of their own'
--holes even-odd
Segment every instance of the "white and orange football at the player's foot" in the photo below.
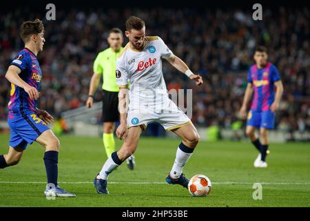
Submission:
<svg viewBox="0 0 310 221">
<path fill-rule="evenodd" d="M 205 175 L 197 174 L 189 180 L 188 190 L 192 196 L 205 196 L 211 191 L 211 181 Z"/>
</svg>

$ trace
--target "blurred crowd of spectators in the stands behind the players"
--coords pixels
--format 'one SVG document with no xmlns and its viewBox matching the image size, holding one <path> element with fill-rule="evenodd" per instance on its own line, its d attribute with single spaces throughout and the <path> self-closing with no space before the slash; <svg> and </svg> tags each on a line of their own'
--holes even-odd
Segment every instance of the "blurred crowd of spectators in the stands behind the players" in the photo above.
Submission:
<svg viewBox="0 0 310 221">
<path fill-rule="evenodd" d="M 209 9 L 56 10 L 56 21 L 29 9 L 0 13 L 0 119 L 6 120 L 10 85 L 4 78 L 12 57 L 23 48 L 19 26 L 24 18 L 45 23 L 40 108 L 54 115 L 85 105 L 92 64 L 107 48 L 107 31 L 124 30 L 125 19 L 145 19 L 147 35 L 160 36 L 205 84 L 197 87 L 164 61 L 167 88 L 193 88 L 192 121 L 199 126 L 231 128 L 239 119 L 254 48 L 267 46 L 285 87 L 276 128 L 310 131 L 310 10 L 265 10 L 263 21 L 252 11 Z M 125 39 L 125 44 L 127 39 Z M 124 45 L 125 45 L 124 44 Z M 99 93 L 100 92 L 100 93 Z M 97 91 L 96 101 L 101 99 Z"/>
</svg>

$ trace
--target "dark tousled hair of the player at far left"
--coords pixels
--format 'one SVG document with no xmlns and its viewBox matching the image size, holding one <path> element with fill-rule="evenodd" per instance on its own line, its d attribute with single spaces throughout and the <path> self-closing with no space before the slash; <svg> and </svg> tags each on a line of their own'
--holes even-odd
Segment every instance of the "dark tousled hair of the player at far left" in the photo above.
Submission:
<svg viewBox="0 0 310 221">
<path fill-rule="evenodd" d="M 35 19 L 34 21 L 25 21 L 21 24 L 21 29 L 19 35 L 23 42 L 29 41 L 31 35 L 37 35 L 44 30 L 43 22 L 40 19 Z"/>
</svg>

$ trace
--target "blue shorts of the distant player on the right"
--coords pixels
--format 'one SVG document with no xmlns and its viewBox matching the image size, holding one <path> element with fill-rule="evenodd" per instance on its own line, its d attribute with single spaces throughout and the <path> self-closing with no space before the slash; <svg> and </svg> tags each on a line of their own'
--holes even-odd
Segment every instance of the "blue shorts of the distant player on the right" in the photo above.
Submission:
<svg viewBox="0 0 310 221">
<path fill-rule="evenodd" d="M 271 111 L 249 111 L 249 114 L 247 115 L 247 126 L 273 129 L 275 118 L 276 113 L 273 113 Z"/>
</svg>

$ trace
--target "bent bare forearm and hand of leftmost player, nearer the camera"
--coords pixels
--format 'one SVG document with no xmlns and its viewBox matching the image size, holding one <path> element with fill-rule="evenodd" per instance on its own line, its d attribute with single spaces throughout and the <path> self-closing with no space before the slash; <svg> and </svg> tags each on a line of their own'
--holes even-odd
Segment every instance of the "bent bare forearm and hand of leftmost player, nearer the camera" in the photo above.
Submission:
<svg viewBox="0 0 310 221">
<path fill-rule="evenodd" d="M 17 66 L 11 65 L 6 72 L 6 79 L 8 79 L 8 81 L 10 81 L 12 84 L 23 88 L 23 90 L 28 93 L 30 99 L 38 99 L 39 92 L 37 88 L 34 88 L 23 81 L 23 79 L 19 77 L 19 73 L 21 73 L 21 69 L 19 69 Z"/>
</svg>

